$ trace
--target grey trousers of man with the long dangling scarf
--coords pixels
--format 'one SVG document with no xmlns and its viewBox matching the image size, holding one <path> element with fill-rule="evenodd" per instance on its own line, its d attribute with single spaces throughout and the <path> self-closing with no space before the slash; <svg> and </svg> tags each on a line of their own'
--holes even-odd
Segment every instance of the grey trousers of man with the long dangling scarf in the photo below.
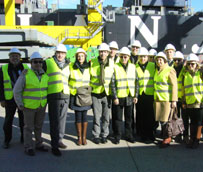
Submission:
<svg viewBox="0 0 203 172">
<path fill-rule="evenodd" d="M 100 135 L 101 137 L 107 137 L 109 135 L 110 120 L 110 107 L 107 96 L 103 98 L 92 96 L 92 101 L 94 114 L 92 134 L 95 138 L 99 138 Z"/>
</svg>

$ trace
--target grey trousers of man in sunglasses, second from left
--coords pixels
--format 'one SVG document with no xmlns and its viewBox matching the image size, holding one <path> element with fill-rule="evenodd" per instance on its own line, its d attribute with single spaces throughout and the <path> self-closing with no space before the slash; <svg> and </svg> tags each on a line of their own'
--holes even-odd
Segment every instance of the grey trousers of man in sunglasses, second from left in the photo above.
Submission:
<svg viewBox="0 0 203 172">
<path fill-rule="evenodd" d="M 42 125 L 45 117 L 45 109 L 27 109 L 23 110 L 24 114 L 24 147 L 25 149 L 34 149 L 34 142 L 32 140 L 32 132 L 35 135 L 35 145 L 40 147 L 42 145 Z"/>
</svg>

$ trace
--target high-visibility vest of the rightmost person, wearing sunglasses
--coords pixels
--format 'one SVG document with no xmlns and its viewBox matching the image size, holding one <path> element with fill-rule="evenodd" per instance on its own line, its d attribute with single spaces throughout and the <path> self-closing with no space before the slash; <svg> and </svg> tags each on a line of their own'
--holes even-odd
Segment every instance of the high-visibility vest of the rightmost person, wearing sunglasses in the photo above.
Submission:
<svg viewBox="0 0 203 172">
<path fill-rule="evenodd" d="M 189 72 L 186 72 L 184 76 L 184 91 L 186 104 L 203 102 L 203 81 L 200 71 L 195 72 L 193 77 Z"/>
</svg>

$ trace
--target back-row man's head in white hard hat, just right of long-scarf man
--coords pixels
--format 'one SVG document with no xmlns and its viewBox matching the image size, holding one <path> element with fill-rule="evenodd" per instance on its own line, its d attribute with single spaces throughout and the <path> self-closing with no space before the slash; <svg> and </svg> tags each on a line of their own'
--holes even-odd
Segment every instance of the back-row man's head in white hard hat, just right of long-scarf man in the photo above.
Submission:
<svg viewBox="0 0 203 172">
<path fill-rule="evenodd" d="M 109 53 L 109 60 L 114 64 L 119 62 L 119 57 L 117 56 L 118 53 L 118 44 L 116 41 L 112 41 L 109 43 L 110 53 Z"/>
</svg>

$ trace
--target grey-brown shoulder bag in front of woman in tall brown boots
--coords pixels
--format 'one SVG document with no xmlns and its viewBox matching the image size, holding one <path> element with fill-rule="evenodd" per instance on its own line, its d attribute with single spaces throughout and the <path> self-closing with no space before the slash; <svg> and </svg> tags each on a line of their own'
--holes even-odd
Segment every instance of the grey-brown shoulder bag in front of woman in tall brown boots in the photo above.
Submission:
<svg viewBox="0 0 203 172">
<path fill-rule="evenodd" d="M 75 103 L 77 106 L 91 106 L 92 105 L 92 87 L 82 86 L 77 88 Z"/>
</svg>

